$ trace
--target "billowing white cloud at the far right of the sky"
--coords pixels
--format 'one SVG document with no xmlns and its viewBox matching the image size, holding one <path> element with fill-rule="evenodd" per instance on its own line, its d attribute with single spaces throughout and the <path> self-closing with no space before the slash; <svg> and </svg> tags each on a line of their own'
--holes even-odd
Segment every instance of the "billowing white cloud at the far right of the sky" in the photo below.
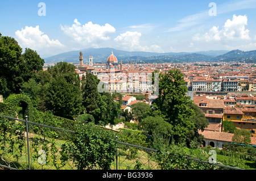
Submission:
<svg viewBox="0 0 256 181">
<path fill-rule="evenodd" d="M 247 16 L 244 15 L 233 15 L 233 19 L 226 20 L 223 28 L 219 30 L 219 27 L 213 26 L 210 28 L 209 32 L 200 35 L 197 33 L 193 40 L 196 41 L 240 41 L 240 40 L 250 40 L 249 30 L 245 29 L 247 25 Z"/>
</svg>

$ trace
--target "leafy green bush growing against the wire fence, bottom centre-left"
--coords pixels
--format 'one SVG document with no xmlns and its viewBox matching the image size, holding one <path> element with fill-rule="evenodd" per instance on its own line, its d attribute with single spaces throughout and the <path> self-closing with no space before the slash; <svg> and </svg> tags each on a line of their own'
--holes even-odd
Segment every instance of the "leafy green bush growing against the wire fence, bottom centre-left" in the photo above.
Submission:
<svg viewBox="0 0 256 181">
<path fill-rule="evenodd" d="M 117 149 L 114 132 L 84 121 L 77 121 L 76 132 L 61 149 L 69 153 L 77 169 L 109 170 Z M 62 154 L 61 160 L 68 160 L 67 154 Z"/>
</svg>

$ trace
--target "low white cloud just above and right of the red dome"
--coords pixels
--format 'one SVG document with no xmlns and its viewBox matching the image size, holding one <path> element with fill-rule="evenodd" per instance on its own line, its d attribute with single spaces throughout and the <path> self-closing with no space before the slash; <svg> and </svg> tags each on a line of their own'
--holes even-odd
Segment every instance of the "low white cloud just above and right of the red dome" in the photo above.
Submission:
<svg viewBox="0 0 256 181">
<path fill-rule="evenodd" d="M 117 48 L 126 49 L 129 51 L 144 51 L 144 52 L 163 52 L 162 48 L 158 45 L 141 46 L 139 39 L 141 39 L 142 34 L 140 32 L 126 31 L 115 37 L 114 41 Z"/>
</svg>

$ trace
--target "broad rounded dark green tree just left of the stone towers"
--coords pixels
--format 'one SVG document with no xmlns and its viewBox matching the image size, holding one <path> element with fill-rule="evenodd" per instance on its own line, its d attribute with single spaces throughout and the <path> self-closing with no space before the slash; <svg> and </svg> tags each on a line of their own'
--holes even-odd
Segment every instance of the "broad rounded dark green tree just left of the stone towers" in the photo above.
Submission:
<svg viewBox="0 0 256 181">
<path fill-rule="evenodd" d="M 75 70 L 76 67 L 67 62 L 59 62 L 47 69 L 52 77 L 49 82 L 44 82 L 44 104 L 56 116 L 72 119 L 82 111 L 80 80 Z"/>
</svg>

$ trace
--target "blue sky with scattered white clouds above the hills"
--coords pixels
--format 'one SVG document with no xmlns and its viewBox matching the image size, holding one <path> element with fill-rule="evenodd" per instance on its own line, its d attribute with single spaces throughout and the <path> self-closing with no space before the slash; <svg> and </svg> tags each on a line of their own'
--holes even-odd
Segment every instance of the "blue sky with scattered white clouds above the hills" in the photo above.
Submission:
<svg viewBox="0 0 256 181">
<path fill-rule="evenodd" d="M 40 2 L 45 9 L 38 6 Z M 214 6 L 209 6 L 211 2 Z M 216 14 L 211 16 L 213 7 Z M 90 47 L 147 52 L 255 50 L 255 10 L 256 0 L 1 1 L 0 32 L 41 57 Z"/>
</svg>

